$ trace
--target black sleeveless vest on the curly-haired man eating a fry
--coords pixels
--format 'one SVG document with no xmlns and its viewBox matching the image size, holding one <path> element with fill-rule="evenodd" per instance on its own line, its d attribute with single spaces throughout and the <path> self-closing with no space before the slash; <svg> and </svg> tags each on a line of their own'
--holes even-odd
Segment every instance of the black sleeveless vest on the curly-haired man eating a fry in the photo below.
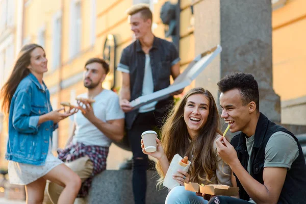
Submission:
<svg viewBox="0 0 306 204">
<path fill-rule="evenodd" d="M 246 135 L 241 133 L 236 135 L 231 144 L 237 151 L 237 156 L 242 166 L 247 170 L 248 160 L 251 160 L 251 172 L 250 175 L 261 184 L 264 184 L 263 171 L 265 163 L 265 148 L 273 133 L 285 132 L 291 135 L 298 145 L 299 154 L 296 160 L 292 163 L 291 169 L 287 171 L 285 183 L 279 195 L 277 203 L 306 203 L 306 164 L 303 156 L 301 145 L 297 138 L 281 125 L 277 125 L 271 122 L 264 114 L 260 113 L 260 117 L 256 126 L 255 141 L 252 148 L 252 157 L 249 158 L 245 137 Z M 239 187 L 239 195 L 241 199 L 249 200 L 249 195 L 243 189 L 241 183 L 236 176 L 237 185 Z"/>
</svg>

